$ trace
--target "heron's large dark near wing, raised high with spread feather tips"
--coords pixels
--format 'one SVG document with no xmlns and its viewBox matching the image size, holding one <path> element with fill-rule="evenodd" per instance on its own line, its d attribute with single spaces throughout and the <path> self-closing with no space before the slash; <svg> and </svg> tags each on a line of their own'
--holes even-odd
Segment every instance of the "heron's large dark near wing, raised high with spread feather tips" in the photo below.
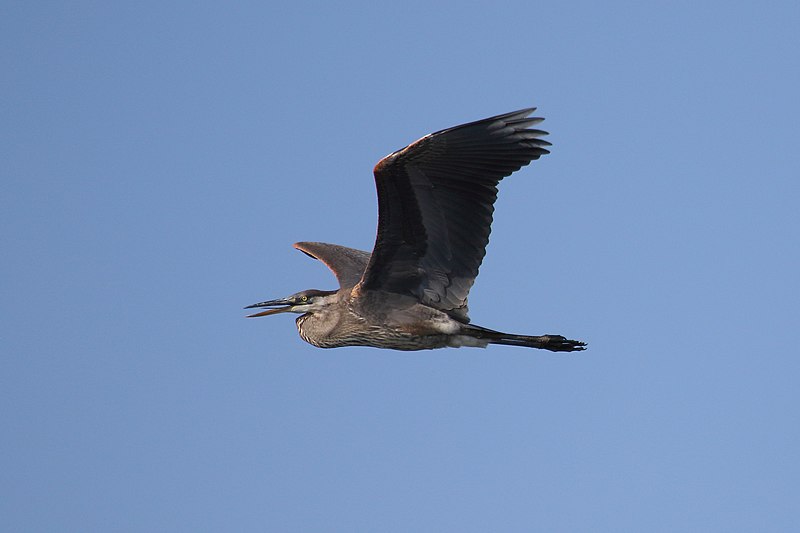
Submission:
<svg viewBox="0 0 800 533">
<path fill-rule="evenodd" d="M 378 162 L 378 235 L 360 289 L 410 294 L 469 321 L 497 184 L 549 153 L 533 111 L 432 133 Z"/>
</svg>

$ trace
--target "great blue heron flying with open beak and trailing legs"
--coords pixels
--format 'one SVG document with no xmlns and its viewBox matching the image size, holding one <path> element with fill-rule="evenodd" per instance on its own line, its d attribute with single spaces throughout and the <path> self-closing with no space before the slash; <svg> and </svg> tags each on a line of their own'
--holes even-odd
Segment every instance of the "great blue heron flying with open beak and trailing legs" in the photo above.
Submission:
<svg viewBox="0 0 800 533">
<path fill-rule="evenodd" d="M 554 352 L 583 350 L 561 335 L 515 335 L 469 323 L 467 295 L 478 275 L 492 223 L 497 184 L 549 153 L 547 132 L 531 129 L 536 108 L 448 128 L 381 159 L 375 166 L 378 236 L 372 253 L 298 242 L 322 261 L 338 291 L 305 290 L 250 308 L 249 315 L 302 313 L 297 330 L 321 348 L 374 346 L 425 350 L 506 344 Z"/>
</svg>

